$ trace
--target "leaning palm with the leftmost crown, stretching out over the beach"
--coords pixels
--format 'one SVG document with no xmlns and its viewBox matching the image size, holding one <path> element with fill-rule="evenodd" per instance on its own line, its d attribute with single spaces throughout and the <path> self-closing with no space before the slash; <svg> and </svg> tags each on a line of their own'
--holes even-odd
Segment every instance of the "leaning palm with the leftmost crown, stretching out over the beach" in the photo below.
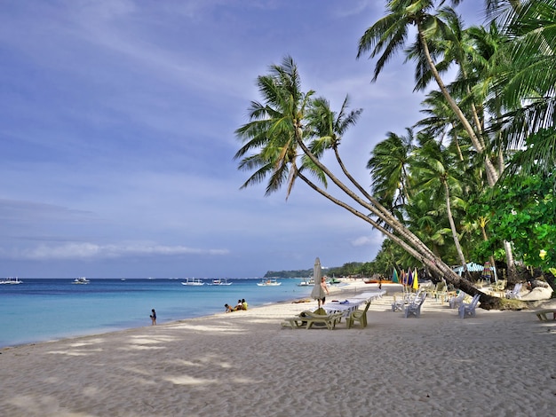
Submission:
<svg viewBox="0 0 556 417">
<path fill-rule="evenodd" d="M 312 144 L 313 140 L 319 141 L 320 137 L 313 136 L 315 130 L 311 129 L 306 117 L 313 91 L 303 93 L 300 90 L 300 77 L 293 59 L 286 57 L 282 66 L 270 67 L 270 74 L 259 76 L 257 84 L 264 101 L 251 103 L 250 122 L 235 131 L 243 144 L 235 153 L 235 159 L 242 159 L 239 168 L 255 171 L 243 187 L 257 184 L 269 177 L 266 193 L 274 193 L 287 184 L 289 195 L 294 181 L 300 179 L 328 200 L 374 226 L 409 255 L 419 259 L 435 275 L 445 277 L 468 294 L 481 294 L 485 302 L 492 299 L 473 287 L 469 281 L 459 277 L 435 256 L 414 233 L 367 193 L 343 164 L 338 161 L 343 174 L 355 185 L 356 191 L 350 189 L 322 163 L 318 152 L 315 154 L 311 151 L 311 147 L 322 149 L 322 146 Z M 317 184 L 306 176 L 306 172 L 316 178 Z M 351 199 L 351 205 L 327 192 L 324 179 L 337 185 Z"/>
</svg>

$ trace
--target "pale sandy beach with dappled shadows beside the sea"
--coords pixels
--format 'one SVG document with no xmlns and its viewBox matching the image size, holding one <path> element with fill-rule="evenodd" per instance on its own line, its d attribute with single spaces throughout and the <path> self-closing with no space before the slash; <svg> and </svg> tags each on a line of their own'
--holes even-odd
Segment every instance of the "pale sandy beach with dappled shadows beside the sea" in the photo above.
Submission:
<svg viewBox="0 0 556 417">
<path fill-rule="evenodd" d="M 359 290 L 366 289 L 359 286 Z M 338 297 L 338 296 L 337 296 Z M 334 298 L 334 295 L 330 299 Z M 556 322 L 531 311 L 419 319 L 385 295 L 369 326 L 281 327 L 278 303 L 156 327 L 0 350 L 5 416 L 549 415 Z M 553 301 L 544 307 L 556 307 Z"/>
</svg>

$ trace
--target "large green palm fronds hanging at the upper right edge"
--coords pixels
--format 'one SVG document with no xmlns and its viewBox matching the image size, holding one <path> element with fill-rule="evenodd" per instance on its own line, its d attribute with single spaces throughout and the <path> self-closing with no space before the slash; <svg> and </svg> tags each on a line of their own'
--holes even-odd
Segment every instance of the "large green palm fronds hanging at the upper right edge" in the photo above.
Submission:
<svg viewBox="0 0 556 417">
<path fill-rule="evenodd" d="M 508 110 L 504 138 L 510 148 L 527 148 L 511 172 L 548 174 L 556 163 L 556 0 L 522 1 L 504 30 L 512 41 L 505 50 L 512 65 L 496 84 Z"/>
</svg>

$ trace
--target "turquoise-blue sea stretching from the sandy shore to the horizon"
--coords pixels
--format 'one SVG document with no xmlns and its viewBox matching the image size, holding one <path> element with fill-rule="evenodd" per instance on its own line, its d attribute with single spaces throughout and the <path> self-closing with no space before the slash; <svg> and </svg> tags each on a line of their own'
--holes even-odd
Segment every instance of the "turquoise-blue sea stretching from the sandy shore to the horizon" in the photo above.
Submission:
<svg viewBox="0 0 556 417">
<path fill-rule="evenodd" d="M 277 287 L 258 287 L 260 279 L 229 279 L 230 286 L 191 287 L 179 279 L 22 279 L 0 285 L 0 348 L 150 326 L 224 311 L 245 298 L 250 307 L 303 298 L 312 287 L 302 279 L 279 279 Z M 210 279 L 205 279 L 206 283 Z"/>
</svg>

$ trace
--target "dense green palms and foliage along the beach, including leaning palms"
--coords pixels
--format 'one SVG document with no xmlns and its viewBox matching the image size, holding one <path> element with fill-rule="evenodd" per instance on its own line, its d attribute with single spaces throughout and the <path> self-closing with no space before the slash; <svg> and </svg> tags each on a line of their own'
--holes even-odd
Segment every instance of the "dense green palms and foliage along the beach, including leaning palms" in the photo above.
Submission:
<svg viewBox="0 0 556 417">
<path fill-rule="evenodd" d="M 373 81 L 405 53 L 415 65 L 415 90 L 433 89 L 422 120 L 369 150 L 370 193 L 339 153 L 361 109 L 349 110 L 346 96 L 335 112 L 303 90 L 289 56 L 258 77 L 262 101 L 251 102 L 250 121 L 236 130 L 242 146 L 235 158 L 251 173 L 242 187 L 266 181 L 266 194 L 285 186 L 288 197 L 300 180 L 382 232 L 370 263 L 377 272 L 420 264 L 494 305 L 469 274 L 459 277 L 449 265 L 504 261 L 516 280 L 515 260 L 547 276 L 556 264 L 556 0 L 488 0 L 488 24 L 469 28 L 459 3 L 390 0 L 385 17 L 361 36 L 358 57 L 376 59 Z M 330 151 L 339 169 L 322 163 Z"/>
</svg>

